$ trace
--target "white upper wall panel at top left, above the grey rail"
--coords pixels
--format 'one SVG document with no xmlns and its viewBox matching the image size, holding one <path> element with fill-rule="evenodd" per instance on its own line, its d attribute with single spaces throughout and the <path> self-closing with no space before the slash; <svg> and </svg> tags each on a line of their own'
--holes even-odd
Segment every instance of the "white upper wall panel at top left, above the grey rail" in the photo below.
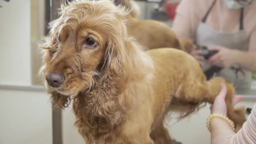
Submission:
<svg viewBox="0 0 256 144">
<path fill-rule="evenodd" d="M 30 85 L 30 0 L 0 5 L 0 84 Z"/>
</svg>

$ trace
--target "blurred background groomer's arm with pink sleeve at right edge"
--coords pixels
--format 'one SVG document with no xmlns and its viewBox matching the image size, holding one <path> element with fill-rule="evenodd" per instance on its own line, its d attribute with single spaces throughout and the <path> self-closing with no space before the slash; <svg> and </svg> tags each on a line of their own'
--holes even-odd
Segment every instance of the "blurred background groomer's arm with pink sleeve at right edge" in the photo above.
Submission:
<svg viewBox="0 0 256 144">
<path fill-rule="evenodd" d="M 239 64 L 241 67 L 248 69 L 251 72 L 256 72 L 256 27 L 249 40 L 249 51 L 234 51 L 237 56 L 235 61 L 236 64 Z"/>
</svg>

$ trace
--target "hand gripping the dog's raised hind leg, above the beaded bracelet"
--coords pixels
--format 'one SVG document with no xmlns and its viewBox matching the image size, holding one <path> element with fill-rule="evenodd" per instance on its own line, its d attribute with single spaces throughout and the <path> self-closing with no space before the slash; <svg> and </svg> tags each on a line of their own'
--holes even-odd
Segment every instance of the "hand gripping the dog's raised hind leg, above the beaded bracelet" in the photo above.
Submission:
<svg viewBox="0 0 256 144">
<path fill-rule="evenodd" d="M 221 88 L 222 89 L 220 93 L 218 94 L 218 96 L 216 96 L 211 106 L 211 114 L 218 113 L 227 116 L 227 105 L 225 101 L 225 98 L 227 96 L 227 87 L 224 83 L 221 83 Z M 242 99 L 242 96 L 235 97 L 233 105 L 235 106 L 235 104 L 242 101 Z"/>
</svg>

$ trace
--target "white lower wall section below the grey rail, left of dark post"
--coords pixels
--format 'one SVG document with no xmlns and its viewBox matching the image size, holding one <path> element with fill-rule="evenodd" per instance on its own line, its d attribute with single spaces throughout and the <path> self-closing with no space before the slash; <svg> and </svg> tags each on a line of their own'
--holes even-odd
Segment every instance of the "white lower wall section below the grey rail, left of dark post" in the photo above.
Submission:
<svg viewBox="0 0 256 144">
<path fill-rule="evenodd" d="M 46 93 L 0 90 L 0 99 L 0 144 L 52 144 Z"/>
</svg>

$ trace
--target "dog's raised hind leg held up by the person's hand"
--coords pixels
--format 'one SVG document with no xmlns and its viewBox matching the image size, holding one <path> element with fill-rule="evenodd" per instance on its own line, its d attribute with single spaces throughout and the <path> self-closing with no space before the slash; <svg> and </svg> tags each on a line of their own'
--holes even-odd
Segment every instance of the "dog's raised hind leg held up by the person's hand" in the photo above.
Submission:
<svg viewBox="0 0 256 144">
<path fill-rule="evenodd" d="M 246 120 L 245 109 L 234 109 L 234 88 L 232 84 L 227 83 L 223 78 L 214 77 L 208 82 L 200 80 L 193 80 L 190 83 L 187 82 L 177 91 L 175 97 L 183 104 L 197 105 L 202 102 L 212 104 L 215 97 L 221 91 L 221 83 L 227 85 L 227 116 L 234 121 L 236 130 L 239 130 Z"/>
</svg>

